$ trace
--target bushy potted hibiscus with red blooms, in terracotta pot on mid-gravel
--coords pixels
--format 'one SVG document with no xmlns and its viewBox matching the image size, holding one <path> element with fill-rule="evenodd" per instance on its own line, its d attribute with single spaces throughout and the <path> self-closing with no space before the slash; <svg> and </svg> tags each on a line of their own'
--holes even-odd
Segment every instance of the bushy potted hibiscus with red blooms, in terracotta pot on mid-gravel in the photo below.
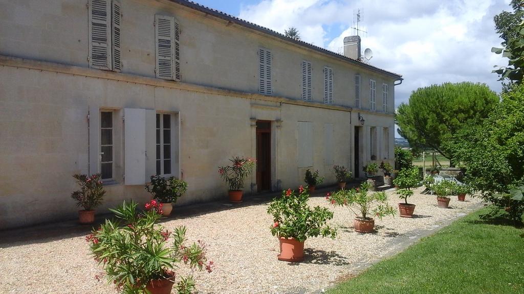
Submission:
<svg viewBox="0 0 524 294">
<path fill-rule="evenodd" d="M 282 191 L 281 197 L 273 199 L 267 209 L 274 221 L 271 234 L 280 242 L 280 261 L 301 261 L 304 241 L 310 237 L 320 235 L 334 239 L 336 236 L 336 230 L 326 224 L 333 218 L 333 212 L 325 207 L 309 207 L 308 198 L 307 188 L 300 186 L 298 195 L 288 189 Z"/>
</svg>

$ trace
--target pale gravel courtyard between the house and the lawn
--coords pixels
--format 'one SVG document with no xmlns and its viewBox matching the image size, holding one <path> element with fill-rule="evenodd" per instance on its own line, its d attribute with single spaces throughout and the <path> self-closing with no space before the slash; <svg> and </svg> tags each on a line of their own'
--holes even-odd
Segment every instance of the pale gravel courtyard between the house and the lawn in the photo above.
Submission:
<svg viewBox="0 0 524 294">
<path fill-rule="evenodd" d="M 208 244 L 208 256 L 215 263 L 211 274 L 197 274 L 200 293 L 310 293 L 330 287 L 354 273 L 359 266 L 375 262 L 413 242 L 423 232 L 435 230 L 450 219 L 478 207 L 481 200 L 452 197 L 450 209 L 436 206 L 436 197 L 421 195 L 417 189 L 409 202 L 416 204 L 416 218 L 396 216 L 376 220 L 376 233 L 353 231 L 353 214 L 335 208 L 331 224 L 339 228 L 335 240 L 312 238 L 305 241 L 305 259 L 292 264 L 277 260 L 278 240 L 271 236 L 267 203 L 171 219 L 163 223 L 172 230 L 188 228 L 190 241 Z M 387 191 L 397 207 L 394 191 Z M 329 206 L 322 194 L 310 205 Z M 175 208 L 175 215 L 177 208 Z M 65 235 L 60 239 L 14 242 L 0 245 L 0 293 L 117 293 L 89 256 L 84 236 Z M 174 291 L 173 291 L 174 293 Z"/>
</svg>

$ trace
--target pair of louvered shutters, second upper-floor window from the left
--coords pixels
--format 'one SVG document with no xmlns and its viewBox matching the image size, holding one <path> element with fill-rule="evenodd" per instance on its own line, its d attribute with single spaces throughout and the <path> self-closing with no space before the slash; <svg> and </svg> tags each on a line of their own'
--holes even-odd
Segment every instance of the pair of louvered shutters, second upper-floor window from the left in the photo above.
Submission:
<svg viewBox="0 0 524 294">
<path fill-rule="evenodd" d="M 180 81 L 180 25 L 172 16 L 155 15 L 155 54 L 156 76 Z"/>
</svg>

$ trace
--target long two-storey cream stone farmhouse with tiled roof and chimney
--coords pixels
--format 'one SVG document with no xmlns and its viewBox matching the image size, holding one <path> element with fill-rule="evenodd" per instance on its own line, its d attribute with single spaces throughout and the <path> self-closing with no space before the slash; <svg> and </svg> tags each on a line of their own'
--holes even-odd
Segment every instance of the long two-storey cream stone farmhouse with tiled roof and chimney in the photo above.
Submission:
<svg viewBox="0 0 524 294">
<path fill-rule="evenodd" d="M 0 229 L 76 218 L 76 173 L 106 211 L 154 174 L 188 182 L 177 206 L 225 199 L 235 155 L 248 195 L 392 163 L 402 77 L 360 55 L 183 0 L 0 0 Z"/>
</svg>

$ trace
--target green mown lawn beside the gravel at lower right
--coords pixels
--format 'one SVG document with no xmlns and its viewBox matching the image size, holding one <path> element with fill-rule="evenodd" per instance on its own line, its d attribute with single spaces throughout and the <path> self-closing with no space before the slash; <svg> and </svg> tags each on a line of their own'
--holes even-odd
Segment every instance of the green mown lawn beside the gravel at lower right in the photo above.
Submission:
<svg viewBox="0 0 524 294">
<path fill-rule="evenodd" d="M 522 230 L 479 221 L 485 212 L 455 221 L 328 293 L 524 293 Z"/>
</svg>

